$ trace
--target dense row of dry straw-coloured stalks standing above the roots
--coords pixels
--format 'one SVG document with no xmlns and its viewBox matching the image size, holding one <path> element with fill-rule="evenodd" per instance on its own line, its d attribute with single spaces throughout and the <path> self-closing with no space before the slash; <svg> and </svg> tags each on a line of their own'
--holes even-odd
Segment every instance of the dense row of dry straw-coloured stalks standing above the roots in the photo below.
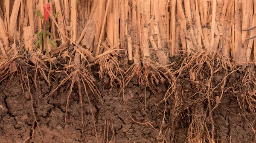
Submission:
<svg viewBox="0 0 256 143">
<path fill-rule="evenodd" d="M 37 22 L 33 20 L 35 16 L 33 14 L 33 10 L 35 9 L 33 8 L 33 1 L 28 0 L 22 1 L 22 3 L 20 2 L 20 0 L 16 0 L 14 2 L 14 8 L 9 8 L 10 5 L 12 6 L 12 1 L 4 0 L 2 2 L 4 3 L 4 9 L 1 9 L 0 12 L 0 17 L 2 17 L 2 22 L 0 23 L 4 25 L 6 32 L 9 32 L 9 39 L 11 40 L 16 35 L 17 37 L 15 36 L 15 38 L 19 43 L 19 35 L 24 30 L 23 27 L 19 27 L 16 31 L 14 21 L 18 19 L 19 23 L 23 25 L 29 22 L 32 28 L 29 28 L 29 33 L 30 31 L 34 33 L 34 25 L 35 22 Z M 38 8 L 43 11 L 43 6 L 47 2 L 47 0 L 38 0 Z M 114 47 L 117 45 L 116 49 L 119 49 L 119 46 L 122 48 L 125 46 L 128 47 L 128 35 L 134 37 L 132 33 L 136 33 L 138 40 L 134 41 L 134 39 L 137 38 L 131 39 L 131 43 L 132 46 L 135 45 L 133 56 L 137 58 L 139 58 L 140 55 L 145 57 L 151 56 L 149 52 L 150 40 L 148 37 L 153 36 L 154 42 L 157 42 L 156 45 L 158 49 L 166 48 L 167 44 L 167 47 L 172 49 L 172 55 L 178 50 L 177 46 L 180 42 L 183 52 L 185 53 L 185 51 L 187 51 L 188 54 L 201 51 L 204 48 L 210 48 L 215 53 L 222 51 L 225 57 L 229 57 L 229 53 L 231 52 L 231 58 L 236 62 L 249 62 L 254 60 L 254 56 L 250 56 L 251 52 L 254 53 L 254 50 L 250 50 L 250 47 L 254 46 L 254 44 L 252 40 L 250 40 L 250 42 L 245 41 L 248 34 L 252 37 L 253 32 L 238 30 L 253 27 L 251 25 L 251 23 L 253 23 L 252 8 L 253 4 L 255 4 L 253 0 L 236 1 L 236 5 L 234 5 L 234 0 L 218 0 L 212 2 L 204 0 L 184 0 L 184 3 L 182 3 L 181 0 L 110 0 L 110 10 L 107 12 L 107 25 L 105 25 L 103 23 L 103 15 L 106 8 L 108 8 L 107 3 L 107 0 L 95 0 L 93 2 L 84 0 L 79 1 L 79 6 L 76 8 L 75 2 L 55 0 L 55 9 L 56 11 L 60 11 L 61 14 L 60 17 L 58 17 L 58 29 L 55 29 L 53 24 L 53 22 L 55 24 L 57 24 L 57 22 L 53 21 L 51 23 L 51 32 L 54 38 L 56 36 L 55 30 L 57 30 L 62 45 L 68 41 L 75 43 L 75 47 L 77 48 L 83 38 L 84 40 L 88 40 L 88 36 L 84 36 L 87 33 L 87 24 L 92 16 L 95 15 L 94 11 L 98 9 L 99 14 L 95 15 L 93 18 L 96 22 L 96 31 L 95 34 L 93 32 L 90 33 L 90 42 L 93 39 L 95 43 L 95 45 L 90 47 L 90 52 L 93 51 L 93 56 L 107 51 L 106 48 L 100 47 L 101 42 L 105 42 L 102 38 L 105 39 L 105 37 L 107 37 L 111 43 L 111 45 L 108 45 L 110 48 L 111 46 Z M 134 11 L 131 10 L 133 9 L 132 6 L 136 6 Z M 55 11 L 55 9 L 52 7 L 51 11 Z M 239 9 L 241 10 L 240 12 L 238 11 Z M 10 10 L 13 12 L 9 18 L 8 11 Z M 233 10 L 236 15 L 233 15 Z M 25 14 L 25 17 L 18 17 L 19 11 L 19 16 Z M 70 14 L 68 11 L 70 11 Z M 178 17 L 179 25 L 176 24 L 176 17 Z M 79 22 L 75 24 L 78 19 Z M 136 31 L 132 31 L 129 34 L 129 30 L 135 26 L 129 25 L 134 20 L 137 20 Z M 234 21 L 232 22 L 232 20 Z M 239 22 L 241 22 L 241 25 Z M 80 31 L 81 28 L 84 28 L 83 31 Z M 231 28 L 233 28 L 234 31 Z M 41 30 L 41 20 L 39 20 L 39 30 Z M 71 35 L 68 35 L 68 31 L 71 32 Z M 2 37 L 6 36 L 3 35 L 6 32 L 1 32 Z M 70 39 L 69 36 L 71 37 Z M 2 37 L 1 39 L 4 39 Z M 77 41 L 76 37 L 78 37 Z M 99 42 L 100 39 L 102 40 L 101 42 Z M 4 48 L 6 48 L 5 45 L 7 41 L 7 38 L 2 41 Z M 241 41 L 240 44 L 239 41 Z M 119 43 L 121 43 L 121 45 L 119 45 Z M 95 53 L 98 54 L 95 55 Z M 116 50 L 116 53 L 119 53 L 119 50 Z M 127 53 L 128 51 L 125 51 L 126 56 Z M 238 53 L 242 53 L 243 56 L 239 57 Z M 244 56 L 246 56 L 246 58 L 243 58 Z M 127 56 L 126 58 L 128 60 L 129 57 Z M 140 59 L 138 59 L 138 61 L 140 61 Z"/>
</svg>

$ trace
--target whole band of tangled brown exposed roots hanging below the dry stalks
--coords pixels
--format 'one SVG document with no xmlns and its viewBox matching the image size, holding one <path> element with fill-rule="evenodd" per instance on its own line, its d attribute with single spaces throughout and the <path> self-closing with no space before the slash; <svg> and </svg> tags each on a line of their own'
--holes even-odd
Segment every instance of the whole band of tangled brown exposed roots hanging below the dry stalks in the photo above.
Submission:
<svg viewBox="0 0 256 143">
<path fill-rule="evenodd" d="M 5 80 L 8 76 L 12 79 L 15 71 L 17 71 L 17 69 L 15 70 L 15 67 L 20 67 L 21 77 L 24 83 L 23 85 L 25 85 L 26 90 L 29 92 L 32 112 L 35 118 L 34 124 L 32 125 L 33 140 L 35 124 L 37 125 L 40 134 L 41 130 L 33 107 L 33 102 L 36 101 L 33 98 L 36 96 L 32 96 L 33 94 L 30 91 L 31 83 L 29 83 L 29 79 L 32 79 L 34 82 L 36 91 L 39 91 L 39 88 L 41 87 L 40 82 L 38 82 L 40 81 L 40 77 L 43 77 L 48 84 L 50 81 L 47 80 L 47 76 L 45 74 L 45 71 L 48 70 L 47 65 L 38 58 L 38 55 L 41 54 L 33 52 L 30 54 L 29 59 L 26 57 L 17 59 L 19 58 L 17 55 L 11 58 L 11 56 L 6 54 L 6 57 L 1 59 L 0 62 L 0 82 Z M 29 62 L 32 62 L 33 65 L 28 64 Z M 193 56 L 187 56 L 182 59 L 182 61 L 177 61 L 177 59 L 175 59 L 172 63 L 166 66 L 162 66 L 148 59 L 148 61 L 144 60 L 143 63 L 135 61 L 128 69 L 123 69 L 119 66 L 122 65 L 119 61 L 108 55 L 100 57 L 92 64 L 88 63 L 85 65 L 81 62 L 79 53 L 76 52 L 73 64 L 74 69 L 70 66 L 71 72 L 69 75 L 67 74 L 67 71 L 55 71 L 64 72 L 67 77 L 63 79 L 58 86 L 56 85 L 47 97 L 56 92 L 63 84 L 67 82 L 71 83 L 68 87 L 69 89 L 67 92 L 67 103 L 64 117 L 64 122 L 67 122 L 70 96 L 72 95 L 74 86 L 77 86 L 77 93 L 79 94 L 79 101 L 81 104 L 81 132 L 84 133 L 85 129 L 82 103 L 82 93 L 84 92 L 89 102 L 90 114 L 92 115 L 97 141 L 98 134 L 96 130 L 96 119 L 93 114 L 90 102 L 91 97 L 88 95 L 88 91 L 91 91 L 93 95 L 97 95 L 98 101 L 102 104 L 103 101 L 102 95 L 96 85 L 96 79 L 93 76 L 93 73 L 89 70 L 92 65 L 99 66 L 98 75 L 101 80 L 104 80 L 106 76 L 109 76 L 111 85 L 110 92 L 114 87 L 118 87 L 121 89 L 121 93 L 135 76 L 137 77 L 139 85 L 141 87 L 145 87 L 145 91 L 148 87 L 154 95 L 157 95 L 157 91 L 154 90 L 152 85 L 169 85 L 169 87 L 166 86 L 166 88 L 168 88 L 166 94 L 161 97 L 160 102 L 155 106 L 158 115 L 160 116 L 160 120 L 153 121 L 148 117 L 149 111 L 147 108 L 146 94 L 144 99 L 145 104 L 143 105 L 145 121 L 136 121 L 133 115 L 127 111 L 132 121 L 146 126 L 147 129 L 149 128 L 156 133 L 157 137 L 155 137 L 154 140 L 147 140 L 141 135 L 146 142 L 155 142 L 156 140 L 158 142 L 175 141 L 175 131 L 177 130 L 176 128 L 178 128 L 177 124 L 180 123 L 181 118 L 186 118 L 189 122 L 186 127 L 186 141 L 188 143 L 216 143 L 219 140 L 223 141 L 218 137 L 219 133 L 216 128 L 213 115 L 227 94 L 232 94 L 236 97 L 239 107 L 243 113 L 241 117 L 243 117 L 250 125 L 252 137 L 256 139 L 256 119 L 254 118 L 256 116 L 255 67 L 246 67 L 246 70 L 243 71 L 241 67 L 236 67 L 234 64 L 231 64 L 229 60 L 223 60 L 223 57 L 215 56 L 215 58 L 210 59 L 205 52 L 200 52 Z M 29 73 L 29 70 L 27 70 L 28 67 L 35 70 L 34 74 Z M 26 79 L 24 79 L 25 73 L 22 71 L 26 71 Z M 242 75 L 242 77 L 235 77 L 236 74 L 239 76 Z M 230 78 L 233 78 L 234 81 L 229 80 Z M 23 85 L 22 90 L 24 92 Z M 39 98 L 37 98 L 37 102 L 39 107 Z M 113 128 L 113 123 L 109 120 L 105 120 L 103 132 L 104 143 L 115 142 L 115 130 Z M 111 135 L 110 132 L 112 132 L 113 135 Z M 110 136 L 112 136 L 112 138 Z M 108 140 L 108 137 L 111 138 L 111 140 Z M 44 138 L 42 136 L 41 138 L 44 142 Z"/>
</svg>

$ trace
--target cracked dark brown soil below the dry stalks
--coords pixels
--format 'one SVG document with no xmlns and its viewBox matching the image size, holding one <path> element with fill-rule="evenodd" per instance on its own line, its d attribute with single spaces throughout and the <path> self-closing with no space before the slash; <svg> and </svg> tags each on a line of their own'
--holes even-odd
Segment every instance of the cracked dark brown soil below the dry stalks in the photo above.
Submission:
<svg viewBox="0 0 256 143">
<path fill-rule="evenodd" d="M 178 69 L 184 58 L 176 57 L 172 60 L 177 62 L 173 68 Z M 99 143 L 184 143 L 196 138 L 192 134 L 201 135 L 203 142 L 209 142 L 209 138 L 204 137 L 212 133 L 216 143 L 251 143 L 255 140 L 255 97 L 248 98 L 247 92 L 255 90 L 256 86 L 250 84 L 247 87 L 245 76 L 248 75 L 248 67 L 233 73 L 231 72 L 234 69 L 219 68 L 211 76 L 209 68 L 204 64 L 196 80 L 207 83 L 212 78 L 211 88 L 208 88 L 206 84 L 191 80 L 190 71 L 195 64 L 192 63 L 191 68 L 174 74 L 177 79 L 176 94 L 171 94 L 166 102 L 161 101 L 166 92 L 172 92 L 168 90 L 171 84 L 150 84 L 149 88 L 139 85 L 137 77 L 134 76 L 119 93 L 118 86 L 111 90 L 111 79 L 108 76 L 100 81 L 97 71 L 92 71 L 102 99 L 88 90 L 86 85 L 89 103 L 84 87 L 81 86 L 83 130 L 79 89 L 76 84 L 70 95 L 65 123 L 67 93 L 71 81 L 61 85 L 51 96 L 48 95 L 67 77 L 66 74 L 54 73 L 57 80 L 52 81 L 49 89 L 40 74 L 37 74 L 39 78 L 35 85 L 32 80 L 35 77 L 34 68 L 21 62 L 19 64 L 21 68 L 0 83 L 1 143 L 96 143 L 97 138 Z M 216 70 L 218 63 L 214 65 Z M 226 77 L 226 84 L 223 87 L 222 84 L 218 86 L 226 73 L 230 73 Z M 30 91 L 26 87 L 27 78 Z M 211 98 L 205 98 L 207 89 L 215 87 L 217 88 L 213 90 Z M 209 116 L 209 111 L 215 107 L 221 95 L 221 103 Z M 212 118 L 212 122 L 207 121 L 209 118 Z M 211 123 L 214 124 L 213 132 Z"/>
</svg>

